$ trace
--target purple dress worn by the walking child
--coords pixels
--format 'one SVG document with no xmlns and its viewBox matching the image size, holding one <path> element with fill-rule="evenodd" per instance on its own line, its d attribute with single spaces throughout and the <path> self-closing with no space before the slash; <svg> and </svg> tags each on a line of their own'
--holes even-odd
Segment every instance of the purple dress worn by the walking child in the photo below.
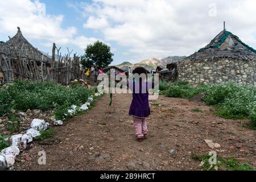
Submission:
<svg viewBox="0 0 256 182">
<path fill-rule="evenodd" d="M 129 89 L 133 91 L 129 115 L 139 118 L 148 117 L 150 115 L 148 88 L 154 88 L 154 82 L 128 82 L 128 85 Z"/>
</svg>

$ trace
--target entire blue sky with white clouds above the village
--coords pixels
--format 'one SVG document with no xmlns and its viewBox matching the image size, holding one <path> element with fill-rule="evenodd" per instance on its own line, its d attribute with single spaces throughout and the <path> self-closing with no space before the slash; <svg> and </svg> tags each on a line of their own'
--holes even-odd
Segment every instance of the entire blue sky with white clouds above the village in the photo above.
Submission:
<svg viewBox="0 0 256 182">
<path fill-rule="evenodd" d="M 0 40 L 23 35 L 44 52 L 52 43 L 79 54 L 101 40 L 114 63 L 189 56 L 222 29 L 256 48 L 254 0 L 8 0 L 0 1 Z"/>
</svg>

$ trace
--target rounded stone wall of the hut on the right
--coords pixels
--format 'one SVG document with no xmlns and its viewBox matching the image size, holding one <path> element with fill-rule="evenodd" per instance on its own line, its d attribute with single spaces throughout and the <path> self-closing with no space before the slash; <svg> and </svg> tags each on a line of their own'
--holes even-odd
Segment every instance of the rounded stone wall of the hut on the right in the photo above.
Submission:
<svg viewBox="0 0 256 182">
<path fill-rule="evenodd" d="M 177 63 L 178 80 L 191 85 L 237 82 L 256 85 L 256 60 L 215 58 L 183 60 Z"/>
</svg>

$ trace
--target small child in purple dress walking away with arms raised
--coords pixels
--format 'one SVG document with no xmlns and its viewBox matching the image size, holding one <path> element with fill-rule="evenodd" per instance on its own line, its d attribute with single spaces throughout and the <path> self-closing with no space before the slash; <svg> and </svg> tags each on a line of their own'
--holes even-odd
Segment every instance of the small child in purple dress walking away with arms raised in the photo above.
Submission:
<svg viewBox="0 0 256 182">
<path fill-rule="evenodd" d="M 147 76 L 146 69 L 142 67 L 134 69 L 133 75 L 136 73 L 138 75 L 144 73 Z M 138 142 L 143 142 L 148 133 L 146 118 L 150 115 L 148 88 L 154 88 L 154 82 L 146 82 L 142 78 L 135 81 L 128 83 L 129 88 L 133 90 L 133 101 L 131 102 L 129 115 L 133 116 Z"/>
</svg>

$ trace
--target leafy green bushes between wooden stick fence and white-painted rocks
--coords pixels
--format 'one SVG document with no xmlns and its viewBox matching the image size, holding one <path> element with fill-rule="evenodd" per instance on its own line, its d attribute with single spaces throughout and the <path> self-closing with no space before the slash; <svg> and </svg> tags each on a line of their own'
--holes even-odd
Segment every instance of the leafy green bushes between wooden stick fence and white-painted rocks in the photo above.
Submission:
<svg viewBox="0 0 256 182">
<path fill-rule="evenodd" d="M 56 119 L 63 119 L 64 109 L 84 104 L 93 92 L 77 84 L 68 88 L 55 82 L 15 81 L 0 89 L 0 117 L 11 109 L 46 111 L 55 108 Z"/>
</svg>

